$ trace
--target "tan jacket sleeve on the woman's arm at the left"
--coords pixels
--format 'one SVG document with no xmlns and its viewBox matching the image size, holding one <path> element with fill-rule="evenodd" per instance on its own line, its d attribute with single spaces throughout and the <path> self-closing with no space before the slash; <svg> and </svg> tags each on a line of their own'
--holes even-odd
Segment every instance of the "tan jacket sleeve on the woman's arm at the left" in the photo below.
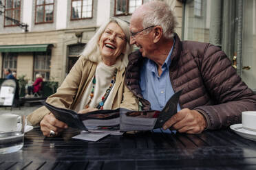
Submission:
<svg viewBox="0 0 256 170">
<path fill-rule="evenodd" d="M 56 93 L 48 97 L 46 102 L 59 108 L 70 108 L 81 82 L 83 66 L 83 58 L 79 58 Z M 39 125 L 43 117 L 49 113 L 50 111 L 43 106 L 29 114 L 27 119 L 32 125 Z"/>
</svg>

